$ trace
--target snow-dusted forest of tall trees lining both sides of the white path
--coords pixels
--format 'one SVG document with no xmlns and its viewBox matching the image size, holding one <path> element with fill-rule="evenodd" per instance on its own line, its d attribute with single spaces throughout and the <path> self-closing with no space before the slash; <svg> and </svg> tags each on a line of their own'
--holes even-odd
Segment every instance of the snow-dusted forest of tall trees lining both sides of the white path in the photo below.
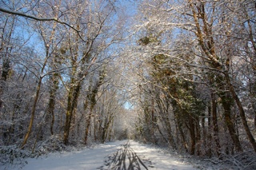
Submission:
<svg viewBox="0 0 256 170">
<path fill-rule="evenodd" d="M 0 0 L 0 63 L 2 163 L 127 138 L 256 161 L 254 0 Z"/>
</svg>

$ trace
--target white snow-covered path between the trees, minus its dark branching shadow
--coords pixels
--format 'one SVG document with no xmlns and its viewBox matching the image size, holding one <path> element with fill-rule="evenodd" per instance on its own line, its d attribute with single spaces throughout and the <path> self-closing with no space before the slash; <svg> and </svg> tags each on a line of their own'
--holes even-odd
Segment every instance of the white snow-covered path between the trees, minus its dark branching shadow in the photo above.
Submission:
<svg viewBox="0 0 256 170">
<path fill-rule="evenodd" d="M 96 169 L 110 169 L 110 158 L 115 155 L 118 150 L 121 150 L 127 140 L 115 141 L 106 144 L 99 144 L 94 148 L 83 148 L 79 151 L 73 152 L 55 152 L 47 156 L 39 158 L 27 159 L 22 169 L 25 170 L 96 170 Z M 198 165 L 188 164 L 186 160 L 178 159 L 175 156 L 167 154 L 159 148 L 154 148 L 148 144 L 139 144 L 134 140 L 129 141 L 130 149 L 136 153 L 136 156 L 142 160 L 147 169 L 181 169 L 193 170 L 198 169 Z M 127 156 L 126 156 L 127 157 Z M 126 167 L 127 168 L 127 167 Z M 0 169 L 21 169 L 8 166 Z M 115 169 L 115 168 L 114 168 Z M 134 168 L 138 169 L 138 168 Z M 146 169 L 141 166 L 141 169 Z"/>
</svg>

